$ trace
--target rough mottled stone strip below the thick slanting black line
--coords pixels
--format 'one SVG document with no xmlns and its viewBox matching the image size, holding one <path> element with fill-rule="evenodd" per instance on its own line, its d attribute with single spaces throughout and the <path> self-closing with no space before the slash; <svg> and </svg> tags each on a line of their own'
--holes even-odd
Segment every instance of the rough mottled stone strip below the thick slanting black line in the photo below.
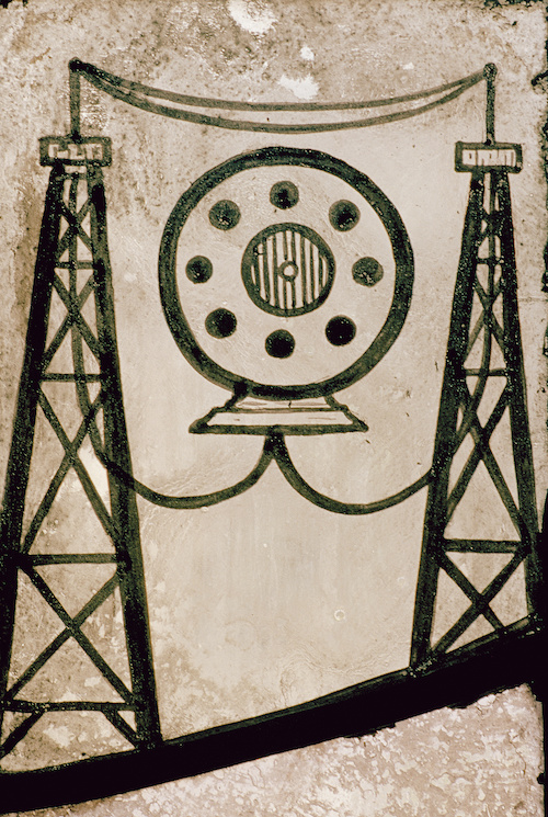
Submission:
<svg viewBox="0 0 548 817">
<path fill-rule="evenodd" d="M 540 817 L 539 713 L 526 688 L 36 817 Z M 10 815 L 9 817 L 14 817 Z"/>
</svg>

